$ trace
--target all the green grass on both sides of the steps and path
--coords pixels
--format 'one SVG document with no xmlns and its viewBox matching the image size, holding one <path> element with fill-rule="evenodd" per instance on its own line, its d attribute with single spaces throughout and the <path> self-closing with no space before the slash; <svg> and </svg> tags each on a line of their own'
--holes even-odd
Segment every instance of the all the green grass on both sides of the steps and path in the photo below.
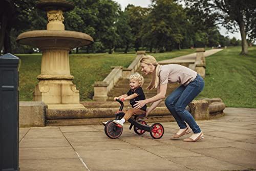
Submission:
<svg viewBox="0 0 256 171">
<path fill-rule="evenodd" d="M 206 58 L 205 88 L 198 98 L 220 97 L 229 107 L 256 108 L 256 47 L 249 48 L 248 56 L 240 56 L 241 47 L 227 49 Z M 181 50 L 151 54 L 157 60 L 170 59 L 193 53 Z M 16 54 L 22 60 L 19 72 L 20 100 L 31 101 L 40 74 L 41 54 Z M 111 66 L 128 67 L 134 53 L 71 54 L 70 69 L 80 100 L 91 100 L 94 81 L 102 81 Z"/>
</svg>

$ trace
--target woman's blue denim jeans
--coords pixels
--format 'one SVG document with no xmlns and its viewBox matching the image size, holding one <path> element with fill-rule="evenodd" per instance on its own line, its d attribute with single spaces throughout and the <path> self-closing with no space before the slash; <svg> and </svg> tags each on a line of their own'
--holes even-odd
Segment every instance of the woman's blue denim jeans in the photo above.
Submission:
<svg viewBox="0 0 256 171">
<path fill-rule="evenodd" d="M 197 74 L 197 77 L 189 82 L 187 86 L 181 85 L 165 99 L 165 105 L 174 116 L 180 129 L 185 129 L 187 123 L 195 134 L 201 132 L 197 122 L 185 108 L 203 88 L 204 80 Z"/>
</svg>

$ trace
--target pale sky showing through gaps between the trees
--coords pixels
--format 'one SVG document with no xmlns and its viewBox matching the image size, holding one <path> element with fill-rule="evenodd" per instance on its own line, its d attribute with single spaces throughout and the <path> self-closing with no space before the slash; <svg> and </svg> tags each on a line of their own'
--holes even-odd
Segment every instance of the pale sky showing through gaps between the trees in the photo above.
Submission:
<svg viewBox="0 0 256 171">
<path fill-rule="evenodd" d="M 118 4 L 121 5 L 122 10 L 128 5 L 133 4 L 135 6 L 148 7 L 151 4 L 151 0 L 114 0 Z M 229 36 L 230 38 L 236 37 L 236 39 L 241 40 L 240 32 L 226 33 L 226 29 L 224 27 L 220 27 L 220 33 L 224 36 Z"/>
</svg>

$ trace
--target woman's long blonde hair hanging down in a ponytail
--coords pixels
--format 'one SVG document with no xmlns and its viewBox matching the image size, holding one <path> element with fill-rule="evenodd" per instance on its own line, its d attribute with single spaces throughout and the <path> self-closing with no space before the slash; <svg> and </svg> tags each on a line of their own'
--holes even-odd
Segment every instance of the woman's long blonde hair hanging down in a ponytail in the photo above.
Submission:
<svg viewBox="0 0 256 171">
<path fill-rule="evenodd" d="M 148 85 L 147 89 L 148 90 L 152 90 L 154 88 L 157 88 L 159 85 L 159 67 L 160 65 L 157 63 L 157 60 L 155 57 L 151 56 L 151 55 L 145 55 L 140 59 L 141 63 L 145 63 L 146 65 L 153 65 L 155 66 L 155 71 L 153 73 L 153 78 L 150 82 L 150 84 Z"/>
</svg>

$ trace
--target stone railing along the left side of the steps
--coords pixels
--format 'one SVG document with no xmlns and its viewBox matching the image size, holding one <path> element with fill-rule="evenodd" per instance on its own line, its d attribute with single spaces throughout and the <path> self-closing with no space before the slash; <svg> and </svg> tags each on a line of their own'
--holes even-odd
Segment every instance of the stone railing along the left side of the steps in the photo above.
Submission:
<svg viewBox="0 0 256 171">
<path fill-rule="evenodd" d="M 115 84 L 121 78 L 129 78 L 140 66 L 140 59 L 145 55 L 145 51 L 137 51 L 137 57 L 133 60 L 128 68 L 111 67 L 112 71 L 103 81 L 95 81 L 94 96 L 95 101 L 106 101 L 108 99 L 108 93 L 114 88 Z"/>
</svg>

